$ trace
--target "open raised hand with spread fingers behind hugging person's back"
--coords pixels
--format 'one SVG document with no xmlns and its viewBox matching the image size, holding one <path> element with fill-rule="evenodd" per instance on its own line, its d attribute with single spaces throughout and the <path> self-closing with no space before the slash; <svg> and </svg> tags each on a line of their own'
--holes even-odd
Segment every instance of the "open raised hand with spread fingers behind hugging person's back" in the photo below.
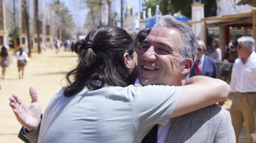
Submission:
<svg viewBox="0 0 256 143">
<path fill-rule="evenodd" d="M 41 106 L 37 99 L 37 92 L 35 87 L 30 87 L 29 94 L 31 103 L 22 102 L 16 94 L 12 94 L 9 98 L 9 104 L 20 124 L 28 131 L 36 129 L 41 118 Z"/>
</svg>

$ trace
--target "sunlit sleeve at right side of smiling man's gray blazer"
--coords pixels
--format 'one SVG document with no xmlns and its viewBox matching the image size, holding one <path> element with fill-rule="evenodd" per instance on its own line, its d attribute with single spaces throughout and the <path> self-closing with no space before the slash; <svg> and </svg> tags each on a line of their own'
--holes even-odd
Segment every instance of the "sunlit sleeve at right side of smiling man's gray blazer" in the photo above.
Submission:
<svg viewBox="0 0 256 143">
<path fill-rule="evenodd" d="M 213 143 L 235 143 L 235 131 L 231 123 L 231 116 L 227 110 L 223 110 L 222 120 L 219 123 Z"/>
</svg>

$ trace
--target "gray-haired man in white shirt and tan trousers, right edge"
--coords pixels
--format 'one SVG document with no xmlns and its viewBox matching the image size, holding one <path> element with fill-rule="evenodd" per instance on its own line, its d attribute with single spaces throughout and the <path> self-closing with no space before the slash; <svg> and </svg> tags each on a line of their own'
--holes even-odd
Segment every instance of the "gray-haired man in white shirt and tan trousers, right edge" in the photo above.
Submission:
<svg viewBox="0 0 256 143">
<path fill-rule="evenodd" d="M 256 54 L 255 40 L 252 37 L 237 39 L 238 57 L 233 65 L 229 83 L 234 99 L 230 108 L 232 124 L 238 141 L 245 122 L 248 143 L 256 143 Z"/>
</svg>

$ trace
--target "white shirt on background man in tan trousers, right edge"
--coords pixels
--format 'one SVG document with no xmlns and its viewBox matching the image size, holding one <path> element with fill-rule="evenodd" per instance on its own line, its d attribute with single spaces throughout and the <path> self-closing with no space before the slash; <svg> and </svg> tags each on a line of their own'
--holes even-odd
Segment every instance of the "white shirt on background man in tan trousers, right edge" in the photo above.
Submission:
<svg viewBox="0 0 256 143">
<path fill-rule="evenodd" d="M 241 58 L 235 60 L 229 86 L 231 92 L 256 92 L 256 53 L 254 51 L 245 64 Z"/>
</svg>

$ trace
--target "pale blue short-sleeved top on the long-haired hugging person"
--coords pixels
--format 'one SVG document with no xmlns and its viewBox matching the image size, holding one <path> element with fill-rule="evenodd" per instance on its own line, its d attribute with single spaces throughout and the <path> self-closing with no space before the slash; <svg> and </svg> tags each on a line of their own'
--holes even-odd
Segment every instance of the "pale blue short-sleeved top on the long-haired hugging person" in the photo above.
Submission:
<svg viewBox="0 0 256 143">
<path fill-rule="evenodd" d="M 38 143 L 140 143 L 155 124 L 166 125 L 182 87 L 103 87 L 53 96 L 41 122 Z"/>
</svg>

